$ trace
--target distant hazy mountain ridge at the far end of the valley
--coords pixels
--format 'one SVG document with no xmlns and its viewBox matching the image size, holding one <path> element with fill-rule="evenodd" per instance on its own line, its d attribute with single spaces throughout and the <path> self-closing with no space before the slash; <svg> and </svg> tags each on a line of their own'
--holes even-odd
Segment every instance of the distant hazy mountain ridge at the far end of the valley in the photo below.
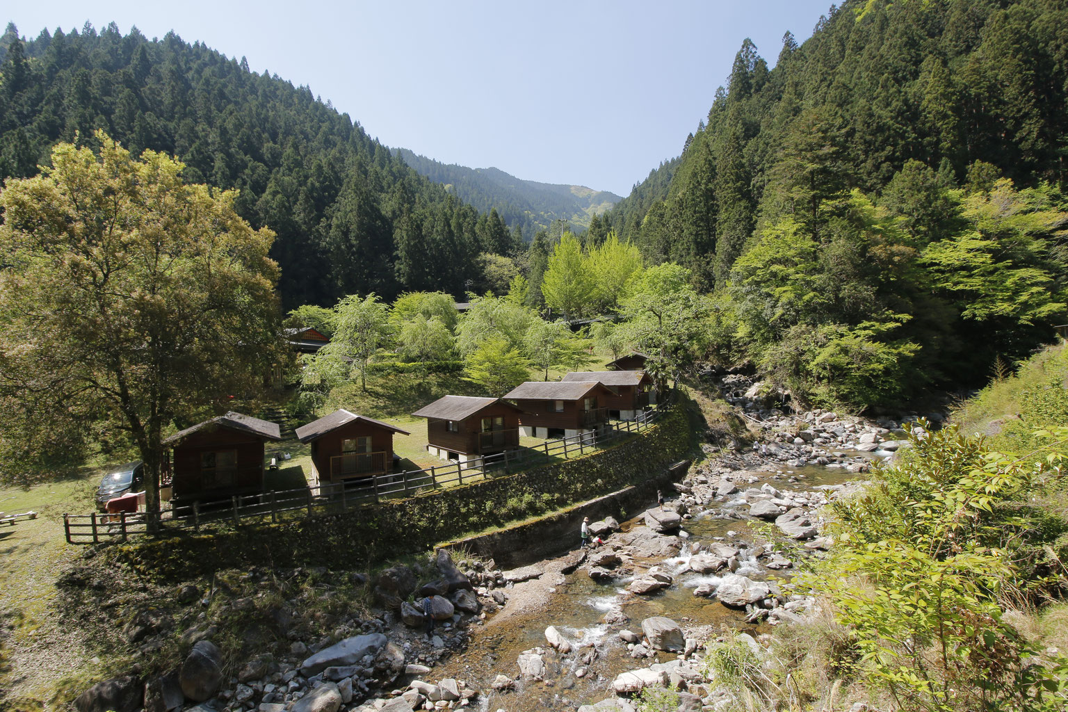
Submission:
<svg viewBox="0 0 1068 712">
<path fill-rule="evenodd" d="M 593 216 L 601 215 L 623 200 L 615 193 L 585 186 L 523 180 L 496 168 L 471 169 L 441 163 L 407 148 L 394 148 L 393 153 L 420 175 L 446 186 L 450 192 L 478 210 L 489 212 L 497 208 L 509 228 L 519 225 L 527 240 L 559 220 L 590 227 Z"/>
</svg>

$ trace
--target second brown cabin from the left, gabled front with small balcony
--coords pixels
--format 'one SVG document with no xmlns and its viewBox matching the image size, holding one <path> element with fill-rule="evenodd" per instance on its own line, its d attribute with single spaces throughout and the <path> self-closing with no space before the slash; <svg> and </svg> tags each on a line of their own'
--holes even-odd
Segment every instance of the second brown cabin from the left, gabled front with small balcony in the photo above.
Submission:
<svg viewBox="0 0 1068 712">
<path fill-rule="evenodd" d="M 393 472 L 393 434 L 407 430 L 335 410 L 297 428 L 297 438 L 312 444 L 312 465 L 320 482 L 373 477 Z"/>
</svg>

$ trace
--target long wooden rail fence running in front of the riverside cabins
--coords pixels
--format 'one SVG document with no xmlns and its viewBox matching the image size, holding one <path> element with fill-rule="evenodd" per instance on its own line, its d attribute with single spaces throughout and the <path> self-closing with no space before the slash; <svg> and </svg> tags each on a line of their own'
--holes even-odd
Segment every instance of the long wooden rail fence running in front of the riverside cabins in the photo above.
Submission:
<svg viewBox="0 0 1068 712">
<path fill-rule="evenodd" d="M 117 512 L 114 515 L 63 515 L 63 529 L 68 543 L 99 543 L 105 540 L 125 541 L 131 535 L 144 534 L 150 516 L 159 519 L 159 527 L 200 532 L 205 524 L 241 526 L 278 522 L 293 517 L 321 517 L 350 509 L 374 506 L 394 499 L 415 496 L 423 492 L 469 485 L 481 479 L 500 477 L 554 460 L 578 457 L 647 429 L 660 411 L 643 411 L 633 421 L 609 423 L 596 431 L 547 440 L 536 447 L 520 447 L 493 455 L 453 461 L 425 470 L 409 470 L 376 476 L 352 477 L 342 482 L 301 487 L 293 490 L 270 490 L 236 494 L 211 502 L 175 504 L 159 512 Z"/>
</svg>

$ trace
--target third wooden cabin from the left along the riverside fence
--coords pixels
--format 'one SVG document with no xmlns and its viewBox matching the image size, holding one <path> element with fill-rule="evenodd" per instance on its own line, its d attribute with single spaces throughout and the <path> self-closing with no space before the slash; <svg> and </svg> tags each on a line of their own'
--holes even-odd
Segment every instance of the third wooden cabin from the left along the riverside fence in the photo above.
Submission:
<svg viewBox="0 0 1068 712">
<path fill-rule="evenodd" d="M 442 396 L 414 413 L 426 418 L 426 450 L 467 462 L 519 447 L 518 408 L 500 398 Z"/>
</svg>

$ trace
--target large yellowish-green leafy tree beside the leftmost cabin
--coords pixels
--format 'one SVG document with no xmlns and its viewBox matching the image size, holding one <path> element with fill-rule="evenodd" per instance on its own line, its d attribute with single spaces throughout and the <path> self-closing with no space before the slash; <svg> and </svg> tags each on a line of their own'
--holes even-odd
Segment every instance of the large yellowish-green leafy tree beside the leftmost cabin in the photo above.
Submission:
<svg viewBox="0 0 1068 712">
<path fill-rule="evenodd" d="M 253 390 L 283 353 L 273 234 L 182 163 L 95 138 L 0 193 L 0 394 L 53 425 L 110 417 L 153 511 L 171 422 Z"/>
</svg>

